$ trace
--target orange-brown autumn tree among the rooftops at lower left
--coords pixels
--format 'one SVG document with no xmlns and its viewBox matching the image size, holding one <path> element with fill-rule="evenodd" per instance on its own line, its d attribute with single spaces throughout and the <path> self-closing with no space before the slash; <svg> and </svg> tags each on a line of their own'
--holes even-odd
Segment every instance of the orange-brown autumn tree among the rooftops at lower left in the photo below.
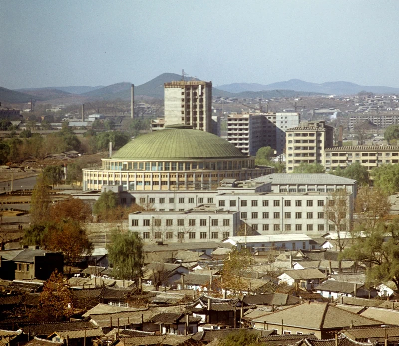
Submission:
<svg viewBox="0 0 399 346">
<path fill-rule="evenodd" d="M 44 283 L 39 304 L 29 317 L 37 322 L 66 321 L 74 313 L 76 298 L 64 284 L 64 276 L 54 271 Z"/>
</svg>

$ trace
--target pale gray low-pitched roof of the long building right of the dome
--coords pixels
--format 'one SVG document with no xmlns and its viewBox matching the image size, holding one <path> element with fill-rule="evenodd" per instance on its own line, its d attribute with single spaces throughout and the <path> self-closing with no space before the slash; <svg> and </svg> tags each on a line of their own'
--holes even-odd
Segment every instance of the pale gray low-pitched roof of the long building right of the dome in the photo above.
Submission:
<svg viewBox="0 0 399 346">
<path fill-rule="evenodd" d="M 272 184 L 354 184 L 356 180 L 343 178 L 327 173 L 320 174 L 296 174 L 296 173 L 274 173 L 263 175 L 256 182 L 271 182 Z"/>
</svg>

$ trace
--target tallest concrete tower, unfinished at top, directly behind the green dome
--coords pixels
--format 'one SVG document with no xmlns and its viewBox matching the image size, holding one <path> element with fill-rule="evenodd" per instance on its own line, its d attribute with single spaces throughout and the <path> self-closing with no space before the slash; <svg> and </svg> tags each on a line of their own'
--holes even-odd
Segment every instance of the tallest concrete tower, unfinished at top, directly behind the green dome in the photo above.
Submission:
<svg viewBox="0 0 399 346">
<path fill-rule="evenodd" d="M 184 124 L 212 130 L 212 82 L 173 81 L 164 84 L 165 125 Z"/>
</svg>

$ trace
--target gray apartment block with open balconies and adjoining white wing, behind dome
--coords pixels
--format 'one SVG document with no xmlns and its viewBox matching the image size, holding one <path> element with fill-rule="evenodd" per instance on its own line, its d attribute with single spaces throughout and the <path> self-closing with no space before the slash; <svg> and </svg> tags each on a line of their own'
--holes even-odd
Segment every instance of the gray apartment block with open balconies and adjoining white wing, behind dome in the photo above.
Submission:
<svg viewBox="0 0 399 346">
<path fill-rule="evenodd" d="M 267 146 L 280 155 L 285 131 L 299 122 L 299 113 L 232 113 L 227 116 L 227 140 L 247 155 L 255 156 L 259 148 Z"/>
</svg>

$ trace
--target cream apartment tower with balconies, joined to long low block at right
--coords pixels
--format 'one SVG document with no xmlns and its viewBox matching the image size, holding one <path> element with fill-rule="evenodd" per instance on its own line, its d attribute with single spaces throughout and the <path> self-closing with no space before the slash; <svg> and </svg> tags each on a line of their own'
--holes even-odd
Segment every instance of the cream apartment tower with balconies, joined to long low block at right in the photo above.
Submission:
<svg viewBox="0 0 399 346">
<path fill-rule="evenodd" d="M 333 127 L 324 120 L 301 123 L 286 133 L 287 173 L 302 163 L 323 164 L 325 149 L 333 146 Z"/>
</svg>

